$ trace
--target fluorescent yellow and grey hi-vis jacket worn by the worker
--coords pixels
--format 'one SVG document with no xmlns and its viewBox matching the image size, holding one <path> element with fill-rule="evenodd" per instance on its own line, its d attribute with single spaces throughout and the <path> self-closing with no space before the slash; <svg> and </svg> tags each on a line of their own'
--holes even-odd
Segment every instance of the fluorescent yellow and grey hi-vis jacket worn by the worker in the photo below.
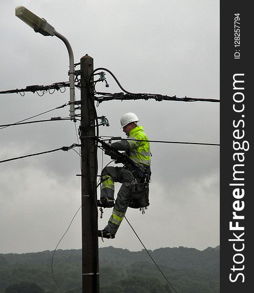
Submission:
<svg viewBox="0 0 254 293">
<path fill-rule="evenodd" d="M 151 164 L 150 144 L 142 126 L 131 129 L 128 140 L 112 143 L 111 146 L 117 150 L 125 150 L 125 154 L 135 163 L 146 167 Z"/>
</svg>

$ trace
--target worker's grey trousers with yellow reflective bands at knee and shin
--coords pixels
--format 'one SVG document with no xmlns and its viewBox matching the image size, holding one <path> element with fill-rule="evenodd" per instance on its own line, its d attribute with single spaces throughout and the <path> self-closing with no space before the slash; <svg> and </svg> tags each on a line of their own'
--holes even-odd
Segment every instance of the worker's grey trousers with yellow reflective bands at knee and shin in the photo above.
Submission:
<svg viewBox="0 0 254 293">
<path fill-rule="evenodd" d="M 134 177 L 134 173 L 134 170 L 129 170 L 125 167 L 105 167 L 102 171 L 101 178 L 104 182 L 101 184 L 101 198 L 105 196 L 114 198 L 114 182 L 122 183 L 117 193 L 112 215 L 105 227 L 105 230 L 112 234 L 116 234 L 132 198 L 131 182 L 136 180 L 139 183 L 141 181 L 141 178 Z"/>
</svg>

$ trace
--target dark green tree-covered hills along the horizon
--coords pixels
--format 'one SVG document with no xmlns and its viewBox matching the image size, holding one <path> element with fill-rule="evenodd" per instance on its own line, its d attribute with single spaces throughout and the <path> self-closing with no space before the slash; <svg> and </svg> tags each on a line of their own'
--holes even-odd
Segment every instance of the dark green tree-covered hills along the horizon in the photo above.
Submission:
<svg viewBox="0 0 254 293">
<path fill-rule="evenodd" d="M 149 251 L 178 293 L 219 293 L 219 247 L 198 251 L 161 248 Z M 51 272 L 53 251 L 0 254 L 0 293 L 10 286 L 33 283 L 44 293 L 59 293 Z M 173 293 L 145 250 L 101 248 L 100 293 Z M 55 280 L 63 293 L 81 293 L 82 251 L 58 250 L 53 259 Z"/>
</svg>

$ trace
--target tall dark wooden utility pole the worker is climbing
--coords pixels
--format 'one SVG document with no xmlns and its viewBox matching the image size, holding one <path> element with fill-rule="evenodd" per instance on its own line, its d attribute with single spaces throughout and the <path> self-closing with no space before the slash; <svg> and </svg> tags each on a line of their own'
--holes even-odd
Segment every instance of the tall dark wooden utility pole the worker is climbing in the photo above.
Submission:
<svg viewBox="0 0 254 293">
<path fill-rule="evenodd" d="M 96 141 L 92 138 L 95 136 L 97 114 L 93 100 L 93 77 L 89 84 L 93 72 L 93 58 L 86 54 L 80 62 L 82 293 L 99 293 L 97 149 Z"/>
</svg>

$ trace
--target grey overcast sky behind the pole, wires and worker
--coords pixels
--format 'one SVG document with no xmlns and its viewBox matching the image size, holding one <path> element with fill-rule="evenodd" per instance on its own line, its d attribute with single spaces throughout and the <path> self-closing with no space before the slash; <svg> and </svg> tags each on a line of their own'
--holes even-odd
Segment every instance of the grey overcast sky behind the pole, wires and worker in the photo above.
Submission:
<svg viewBox="0 0 254 293">
<path fill-rule="evenodd" d="M 68 81 L 68 54 L 56 37 L 35 33 L 15 16 L 25 6 L 70 42 L 74 62 L 85 54 L 130 92 L 219 99 L 219 0 L 0 0 L 0 91 Z M 121 92 L 109 74 L 109 88 Z M 75 91 L 76 99 L 80 92 Z M 1 94 L 0 125 L 68 103 L 64 93 Z M 150 140 L 219 144 L 219 103 L 109 101 L 97 107 L 122 136 L 120 118 L 134 112 Z M 35 120 L 68 117 L 69 107 Z M 78 123 L 76 128 L 78 128 Z M 45 122 L 0 129 L 0 160 L 79 143 L 75 123 Z M 78 150 L 78 149 L 76 149 Z M 148 249 L 219 245 L 219 146 L 151 143 L 150 206 L 127 219 Z M 98 151 L 99 172 L 102 152 Z M 109 162 L 104 156 L 103 165 Z M 116 166 L 112 163 L 112 166 Z M 81 206 L 80 157 L 70 150 L 0 164 L 0 253 L 54 250 Z M 117 190 L 120 185 L 117 185 Z M 99 197 L 98 190 L 98 197 Z M 105 209 L 98 226 L 111 214 Z M 124 220 L 99 247 L 143 247 Z M 58 249 L 81 248 L 81 211 Z"/>
</svg>

